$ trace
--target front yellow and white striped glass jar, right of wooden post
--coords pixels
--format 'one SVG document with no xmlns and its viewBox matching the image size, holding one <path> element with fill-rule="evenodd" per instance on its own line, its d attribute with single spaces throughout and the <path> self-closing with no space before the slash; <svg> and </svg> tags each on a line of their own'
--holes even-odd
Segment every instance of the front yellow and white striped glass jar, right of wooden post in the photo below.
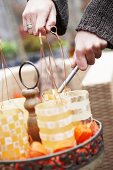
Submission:
<svg viewBox="0 0 113 170">
<path fill-rule="evenodd" d="M 38 126 L 43 145 L 52 152 L 58 142 L 74 139 L 72 111 L 61 100 L 51 100 L 36 106 Z"/>
</svg>

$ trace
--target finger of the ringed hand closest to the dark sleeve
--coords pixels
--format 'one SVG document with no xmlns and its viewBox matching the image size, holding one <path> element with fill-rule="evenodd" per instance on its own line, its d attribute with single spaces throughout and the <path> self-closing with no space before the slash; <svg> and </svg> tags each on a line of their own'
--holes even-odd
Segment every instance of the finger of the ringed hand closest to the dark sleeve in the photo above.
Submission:
<svg viewBox="0 0 113 170">
<path fill-rule="evenodd" d="M 47 23 L 46 23 L 47 32 L 50 32 L 51 26 L 55 26 L 55 25 L 56 25 L 56 9 L 53 6 L 50 13 L 49 13 Z"/>
</svg>

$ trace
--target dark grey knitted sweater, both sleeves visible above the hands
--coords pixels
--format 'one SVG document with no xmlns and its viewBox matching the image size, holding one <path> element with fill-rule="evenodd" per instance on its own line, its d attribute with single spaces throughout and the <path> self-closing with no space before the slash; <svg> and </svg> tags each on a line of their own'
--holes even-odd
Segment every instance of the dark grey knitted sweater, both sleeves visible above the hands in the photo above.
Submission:
<svg viewBox="0 0 113 170">
<path fill-rule="evenodd" d="M 53 0 L 57 10 L 56 26 L 59 35 L 63 35 L 67 29 L 69 16 L 67 1 Z M 113 0 L 92 0 L 76 30 L 95 33 L 108 42 L 108 48 L 113 48 Z"/>
</svg>

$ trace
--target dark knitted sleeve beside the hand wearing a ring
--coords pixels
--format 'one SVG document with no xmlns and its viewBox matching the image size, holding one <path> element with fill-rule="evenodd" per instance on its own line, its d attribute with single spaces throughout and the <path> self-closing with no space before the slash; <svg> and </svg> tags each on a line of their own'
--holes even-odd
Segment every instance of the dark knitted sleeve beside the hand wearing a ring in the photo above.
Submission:
<svg viewBox="0 0 113 170">
<path fill-rule="evenodd" d="M 53 0 L 57 11 L 57 32 L 59 35 L 65 34 L 68 25 L 69 11 L 67 0 Z"/>
</svg>

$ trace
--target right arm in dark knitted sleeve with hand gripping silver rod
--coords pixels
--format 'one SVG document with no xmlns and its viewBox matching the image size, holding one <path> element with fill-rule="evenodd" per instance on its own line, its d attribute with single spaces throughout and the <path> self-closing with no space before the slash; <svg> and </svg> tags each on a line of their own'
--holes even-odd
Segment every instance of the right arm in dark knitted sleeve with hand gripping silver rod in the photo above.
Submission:
<svg viewBox="0 0 113 170">
<path fill-rule="evenodd" d="M 113 1 L 92 0 L 76 30 L 73 66 L 86 70 L 103 49 L 113 48 Z"/>
</svg>

